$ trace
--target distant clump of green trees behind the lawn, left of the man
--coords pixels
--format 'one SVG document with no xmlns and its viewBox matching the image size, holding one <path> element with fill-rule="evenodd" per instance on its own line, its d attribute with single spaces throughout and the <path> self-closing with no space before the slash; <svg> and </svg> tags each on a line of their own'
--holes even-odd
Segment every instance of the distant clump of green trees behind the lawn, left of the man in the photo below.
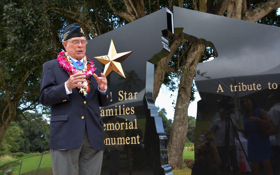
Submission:
<svg viewBox="0 0 280 175">
<path fill-rule="evenodd" d="M 0 155 L 9 154 L 15 158 L 25 157 L 26 153 L 49 150 L 50 124 L 33 113 L 23 113 L 17 122 L 12 122 L 0 146 Z M 21 151 L 19 153 L 12 153 Z M 30 155 L 29 155 L 30 156 Z"/>
</svg>

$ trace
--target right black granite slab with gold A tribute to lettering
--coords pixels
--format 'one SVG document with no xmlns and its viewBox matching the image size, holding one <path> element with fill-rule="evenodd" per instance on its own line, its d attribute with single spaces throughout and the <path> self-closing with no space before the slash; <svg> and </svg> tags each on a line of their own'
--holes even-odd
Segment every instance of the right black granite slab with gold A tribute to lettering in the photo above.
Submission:
<svg viewBox="0 0 280 175">
<path fill-rule="evenodd" d="M 212 43 L 208 46 L 217 56 L 197 66 L 195 83 L 202 100 L 192 174 L 279 174 L 279 27 L 178 7 L 174 19 L 174 27 L 183 27 L 189 40 Z"/>
</svg>

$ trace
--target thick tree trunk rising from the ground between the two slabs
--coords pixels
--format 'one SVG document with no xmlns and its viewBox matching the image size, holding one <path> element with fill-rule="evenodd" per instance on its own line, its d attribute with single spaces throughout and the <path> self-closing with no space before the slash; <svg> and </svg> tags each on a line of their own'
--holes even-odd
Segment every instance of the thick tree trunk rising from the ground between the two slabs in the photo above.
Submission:
<svg viewBox="0 0 280 175">
<path fill-rule="evenodd" d="M 205 50 L 203 44 L 193 44 L 183 67 L 175 106 L 172 132 L 168 143 L 168 160 L 172 169 L 182 169 L 183 149 L 188 132 L 188 107 L 196 66 Z"/>
</svg>

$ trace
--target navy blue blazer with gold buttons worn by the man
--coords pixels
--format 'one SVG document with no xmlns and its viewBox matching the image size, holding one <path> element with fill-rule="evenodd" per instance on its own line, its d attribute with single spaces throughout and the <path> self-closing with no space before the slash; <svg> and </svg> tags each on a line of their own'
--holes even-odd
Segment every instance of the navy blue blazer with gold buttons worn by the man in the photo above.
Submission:
<svg viewBox="0 0 280 175">
<path fill-rule="evenodd" d="M 100 69 L 95 73 L 100 76 Z M 90 92 L 85 98 L 78 88 L 66 95 L 64 83 L 69 75 L 57 60 L 43 65 L 41 78 L 40 102 L 51 105 L 50 149 L 78 149 L 84 140 L 87 129 L 90 144 L 94 150 L 104 149 L 104 128 L 100 120 L 99 107 L 107 106 L 110 91 L 102 95 L 98 90 L 96 79 L 90 77 Z"/>
</svg>

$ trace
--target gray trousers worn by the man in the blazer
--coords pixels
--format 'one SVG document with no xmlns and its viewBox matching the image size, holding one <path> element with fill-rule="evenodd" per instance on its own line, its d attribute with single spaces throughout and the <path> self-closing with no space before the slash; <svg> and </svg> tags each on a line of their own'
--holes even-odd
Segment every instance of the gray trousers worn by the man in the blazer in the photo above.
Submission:
<svg viewBox="0 0 280 175">
<path fill-rule="evenodd" d="M 80 148 L 50 149 L 50 155 L 54 175 L 76 175 L 77 165 L 79 175 L 100 175 L 103 150 L 96 151 L 91 148 L 87 131 Z"/>
</svg>

